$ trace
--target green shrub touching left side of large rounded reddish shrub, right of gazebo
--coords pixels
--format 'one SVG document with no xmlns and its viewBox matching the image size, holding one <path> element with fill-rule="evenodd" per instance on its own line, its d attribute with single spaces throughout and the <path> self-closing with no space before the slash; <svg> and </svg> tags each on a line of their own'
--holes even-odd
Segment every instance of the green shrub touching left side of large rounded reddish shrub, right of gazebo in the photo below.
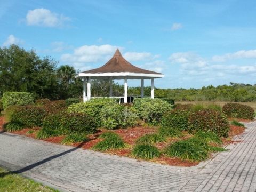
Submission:
<svg viewBox="0 0 256 192">
<path fill-rule="evenodd" d="M 177 105 L 173 110 L 163 115 L 162 126 L 173 127 L 180 131 L 187 130 L 191 108 L 191 105 Z"/>
</svg>

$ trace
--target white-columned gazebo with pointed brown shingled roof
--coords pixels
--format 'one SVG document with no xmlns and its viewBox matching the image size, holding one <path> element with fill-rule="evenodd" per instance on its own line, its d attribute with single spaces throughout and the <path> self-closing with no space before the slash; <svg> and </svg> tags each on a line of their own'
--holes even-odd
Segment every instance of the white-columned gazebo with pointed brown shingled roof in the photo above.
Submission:
<svg viewBox="0 0 256 192">
<path fill-rule="evenodd" d="M 144 79 L 151 79 L 151 98 L 154 99 L 154 79 L 164 77 L 164 74 L 135 67 L 126 61 L 117 49 L 114 56 L 102 67 L 79 73 L 75 78 L 84 79 L 83 100 L 91 98 L 91 79 L 108 79 L 110 81 L 109 97 L 112 97 L 112 81 L 124 79 L 124 103 L 127 103 L 127 79 L 141 79 L 141 97 L 144 97 Z M 87 95 L 86 95 L 87 79 Z"/>
</svg>

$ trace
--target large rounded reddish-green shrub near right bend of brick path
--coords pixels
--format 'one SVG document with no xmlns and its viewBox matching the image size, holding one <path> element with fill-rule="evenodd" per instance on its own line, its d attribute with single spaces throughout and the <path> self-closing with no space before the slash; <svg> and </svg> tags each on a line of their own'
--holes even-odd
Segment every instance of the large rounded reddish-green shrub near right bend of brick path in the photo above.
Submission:
<svg viewBox="0 0 256 192">
<path fill-rule="evenodd" d="M 204 109 L 190 114 L 188 120 L 189 133 L 199 131 L 213 132 L 219 137 L 228 137 L 228 118 L 225 114 L 213 109 Z"/>
</svg>

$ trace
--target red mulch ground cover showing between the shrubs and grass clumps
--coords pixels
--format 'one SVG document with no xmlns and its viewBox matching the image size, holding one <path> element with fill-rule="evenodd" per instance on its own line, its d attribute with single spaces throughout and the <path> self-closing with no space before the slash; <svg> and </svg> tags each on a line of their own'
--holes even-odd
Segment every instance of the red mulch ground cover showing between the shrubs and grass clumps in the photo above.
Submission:
<svg viewBox="0 0 256 192">
<path fill-rule="evenodd" d="M 229 119 L 230 121 L 233 120 Z M 246 120 L 246 119 L 235 119 L 238 122 L 252 122 L 251 120 Z M 3 131 L 2 127 L 5 124 L 5 119 L 4 117 L 0 116 L 0 131 Z M 40 127 L 34 127 L 32 129 L 23 129 L 21 131 L 15 131 L 12 132 L 14 134 L 20 134 L 20 135 L 26 135 L 27 137 L 31 137 L 31 138 L 35 138 L 35 134 L 36 131 L 38 131 L 40 129 Z M 28 134 L 29 130 L 34 130 L 33 133 Z M 230 132 L 229 132 L 229 137 L 228 138 L 222 138 L 223 140 L 223 144 L 224 145 L 228 145 L 230 143 L 237 143 L 239 141 L 233 141 L 231 139 L 231 137 L 234 137 L 235 135 L 239 135 L 242 134 L 244 132 L 245 128 L 243 127 L 239 127 L 239 126 L 235 126 L 235 125 L 230 125 Z M 88 137 L 90 138 L 90 141 L 88 142 L 81 142 L 81 143 L 73 143 L 72 146 L 74 147 L 80 147 L 83 149 L 90 149 L 92 146 L 94 146 L 96 143 L 98 143 L 99 141 L 101 141 L 102 139 L 99 139 L 99 135 L 102 134 L 103 132 L 106 132 L 109 130 L 106 129 L 99 129 L 97 130 L 97 132 L 95 134 L 90 134 L 88 135 Z M 145 134 L 150 134 L 150 133 L 155 133 L 157 132 L 157 127 L 130 127 L 127 129 L 118 129 L 118 130 L 113 130 L 113 132 L 119 134 L 122 139 L 130 146 L 134 145 L 135 141 L 141 137 L 142 135 Z M 191 137 L 191 135 L 189 135 L 187 132 L 185 133 L 185 137 L 183 138 L 179 138 L 179 139 L 187 139 L 189 137 Z M 53 142 L 53 143 L 60 143 L 61 140 L 64 138 L 65 136 L 58 136 L 58 137 L 52 137 L 52 138 L 47 138 L 44 139 L 44 141 L 47 142 Z M 159 149 L 163 149 L 166 145 L 175 142 L 179 139 L 169 139 L 167 142 L 164 143 L 157 143 L 157 148 Z M 242 142 L 242 141 L 241 141 Z M 125 149 L 111 149 L 108 150 L 107 153 L 108 154 L 113 154 L 113 155 L 118 155 L 118 156 L 126 156 L 129 157 L 129 154 L 132 150 L 132 147 L 127 147 Z M 140 160 L 138 160 L 140 161 Z M 150 160 L 150 162 L 154 162 L 154 163 L 158 163 L 158 164 L 165 164 L 165 165 L 172 165 L 172 166 L 195 166 L 197 165 L 199 162 L 188 162 L 188 161 L 180 161 L 180 159 L 178 158 L 172 158 L 172 157 L 164 157 L 163 155 L 159 158 L 154 158 L 153 160 Z"/>
</svg>

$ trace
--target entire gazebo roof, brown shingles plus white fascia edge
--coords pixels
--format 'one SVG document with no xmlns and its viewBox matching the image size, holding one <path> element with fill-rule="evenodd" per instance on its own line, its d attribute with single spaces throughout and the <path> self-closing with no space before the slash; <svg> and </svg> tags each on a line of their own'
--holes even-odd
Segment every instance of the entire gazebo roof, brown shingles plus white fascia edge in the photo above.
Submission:
<svg viewBox="0 0 256 192">
<path fill-rule="evenodd" d="M 150 70 L 141 69 L 126 61 L 117 49 L 114 56 L 102 67 L 91 69 L 79 73 L 76 78 L 93 77 L 95 79 L 108 79 L 110 76 L 113 79 L 141 79 L 143 78 L 161 78 L 163 74 Z"/>
</svg>

